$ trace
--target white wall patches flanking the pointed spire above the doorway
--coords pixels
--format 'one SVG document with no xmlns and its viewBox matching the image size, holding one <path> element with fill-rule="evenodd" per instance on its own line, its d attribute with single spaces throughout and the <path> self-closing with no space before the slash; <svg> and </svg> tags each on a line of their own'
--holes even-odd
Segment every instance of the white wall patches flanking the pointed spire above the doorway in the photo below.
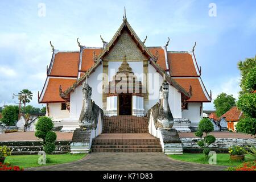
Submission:
<svg viewBox="0 0 256 182">
<path fill-rule="evenodd" d="M 127 61 L 130 65 L 134 75 L 137 76 L 138 80 L 143 84 L 143 61 Z M 109 81 L 113 80 L 113 76 L 118 72 L 118 68 L 121 66 L 122 61 L 109 61 L 108 76 Z"/>
</svg>

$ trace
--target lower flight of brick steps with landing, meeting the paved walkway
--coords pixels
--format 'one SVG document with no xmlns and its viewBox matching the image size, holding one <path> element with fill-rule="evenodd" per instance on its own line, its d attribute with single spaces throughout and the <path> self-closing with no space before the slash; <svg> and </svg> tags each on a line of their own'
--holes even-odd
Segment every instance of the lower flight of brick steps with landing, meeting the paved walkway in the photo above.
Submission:
<svg viewBox="0 0 256 182">
<path fill-rule="evenodd" d="M 93 139 L 92 152 L 162 152 L 158 138 L 150 134 L 101 134 Z"/>
</svg>

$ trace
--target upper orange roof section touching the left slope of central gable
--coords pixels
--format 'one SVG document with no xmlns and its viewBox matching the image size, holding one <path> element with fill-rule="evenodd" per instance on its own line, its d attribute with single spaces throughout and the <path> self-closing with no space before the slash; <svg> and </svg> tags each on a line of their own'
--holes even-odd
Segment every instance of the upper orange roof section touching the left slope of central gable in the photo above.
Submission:
<svg viewBox="0 0 256 182">
<path fill-rule="evenodd" d="M 95 51 L 95 54 L 98 55 L 102 49 L 85 48 L 82 51 L 81 71 L 87 71 L 94 64 L 93 51 Z"/>
</svg>

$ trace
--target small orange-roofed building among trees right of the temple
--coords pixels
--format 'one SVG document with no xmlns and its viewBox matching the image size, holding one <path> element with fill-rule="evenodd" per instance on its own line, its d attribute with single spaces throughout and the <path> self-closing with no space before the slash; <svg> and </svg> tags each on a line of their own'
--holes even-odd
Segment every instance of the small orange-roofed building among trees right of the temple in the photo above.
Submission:
<svg viewBox="0 0 256 182">
<path fill-rule="evenodd" d="M 228 123 L 228 130 L 237 131 L 236 125 L 241 118 L 243 118 L 243 112 L 238 109 L 237 106 L 233 106 L 231 109 L 226 111 L 226 113 L 221 115 L 217 121 L 225 121 Z"/>
</svg>

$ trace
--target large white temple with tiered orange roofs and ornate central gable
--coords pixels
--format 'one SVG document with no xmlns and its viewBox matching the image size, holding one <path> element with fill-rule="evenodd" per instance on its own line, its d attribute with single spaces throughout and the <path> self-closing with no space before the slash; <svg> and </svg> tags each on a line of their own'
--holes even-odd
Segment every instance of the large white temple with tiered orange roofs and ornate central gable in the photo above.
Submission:
<svg viewBox="0 0 256 182">
<path fill-rule="evenodd" d="M 46 104 L 46 115 L 55 126 L 62 126 L 62 131 L 79 128 L 85 82 L 104 117 L 149 117 L 165 83 L 174 128 L 196 129 L 203 103 L 212 98 L 201 80 L 195 46 L 192 51 L 168 51 L 169 39 L 164 46 L 146 47 L 147 38 L 139 39 L 126 16 L 112 40 L 100 38 L 96 41 L 102 41 L 102 47 L 82 46 L 77 39 L 77 51 L 59 51 L 51 44 L 52 58 L 38 102 Z"/>
</svg>

